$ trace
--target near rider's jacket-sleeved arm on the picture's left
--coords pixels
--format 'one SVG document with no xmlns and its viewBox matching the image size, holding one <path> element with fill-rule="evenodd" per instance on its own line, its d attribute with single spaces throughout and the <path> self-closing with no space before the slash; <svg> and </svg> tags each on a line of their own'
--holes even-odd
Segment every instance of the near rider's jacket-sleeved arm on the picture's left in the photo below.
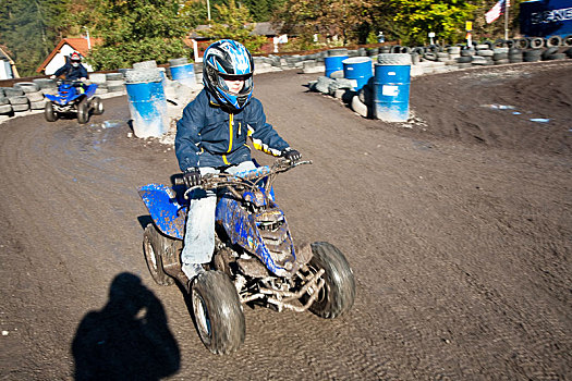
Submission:
<svg viewBox="0 0 572 381">
<path fill-rule="evenodd" d="M 199 99 L 200 98 L 200 99 Z M 200 126 L 204 123 L 205 107 L 196 97 L 183 110 L 183 116 L 177 122 L 177 135 L 174 138 L 174 152 L 179 160 L 181 171 L 198 167 L 198 145 L 200 143 Z"/>
</svg>

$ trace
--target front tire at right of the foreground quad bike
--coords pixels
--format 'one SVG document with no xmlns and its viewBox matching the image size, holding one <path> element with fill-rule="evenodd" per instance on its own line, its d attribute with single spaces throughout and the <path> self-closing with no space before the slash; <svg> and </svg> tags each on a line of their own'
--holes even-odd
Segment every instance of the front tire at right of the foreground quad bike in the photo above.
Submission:
<svg viewBox="0 0 572 381">
<path fill-rule="evenodd" d="M 316 273 L 324 269 L 326 284 L 309 310 L 321 318 L 333 319 L 353 306 L 355 298 L 353 272 L 342 251 L 332 244 L 315 242 L 312 244 L 312 254 L 313 257 L 308 262 L 309 271 Z"/>
</svg>

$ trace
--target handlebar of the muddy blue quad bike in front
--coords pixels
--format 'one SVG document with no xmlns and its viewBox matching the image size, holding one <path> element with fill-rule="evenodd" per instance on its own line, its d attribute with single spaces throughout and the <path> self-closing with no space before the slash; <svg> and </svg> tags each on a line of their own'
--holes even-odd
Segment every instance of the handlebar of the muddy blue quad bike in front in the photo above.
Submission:
<svg viewBox="0 0 572 381">
<path fill-rule="evenodd" d="M 312 164 L 312 160 L 299 160 L 292 162 L 291 160 L 287 160 L 284 158 L 279 158 L 275 161 L 275 163 L 269 165 L 263 165 L 258 167 L 256 170 L 247 171 L 246 173 L 236 173 L 236 174 L 229 174 L 229 173 L 207 173 L 203 175 L 202 183 L 196 186 L 192 186 L 186 189 L 184 197 L 185 199 L 188 198 L 188 193 L 194 189 L 217 189 L 217 188 L 223 188 L 223 187 L 230 187 L 230 188 L 256 188 L 259 187 L 259 182 L 267 177 L 268 180 L 264 184 L 264 187 L 266 189 L 270 189 L 272 186 L 272 183 L 278 175 L 278 173 L 290 171 L 291 169 L 303 165 L 303 164 Z M 174 179 L 175 185 L 184 185 L 183 177 L 175 177 Z"/>
</svg>

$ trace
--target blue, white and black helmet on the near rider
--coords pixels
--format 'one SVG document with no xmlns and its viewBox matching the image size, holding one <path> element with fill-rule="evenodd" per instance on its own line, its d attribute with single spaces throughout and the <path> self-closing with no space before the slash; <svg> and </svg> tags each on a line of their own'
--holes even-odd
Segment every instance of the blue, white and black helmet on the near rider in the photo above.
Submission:
<svg viewBox="0 0 572 381">
<path fill-rule="evenodd" d="M 253 91 L 254 61 L 244 45 L 232 39 L 211 44 L 203 57 L 203 84 L 217 102 L 231 111 L 242 110 Z M 226 79 L 244 79 L 239 94 L 229 91 Z"/>
</svg>

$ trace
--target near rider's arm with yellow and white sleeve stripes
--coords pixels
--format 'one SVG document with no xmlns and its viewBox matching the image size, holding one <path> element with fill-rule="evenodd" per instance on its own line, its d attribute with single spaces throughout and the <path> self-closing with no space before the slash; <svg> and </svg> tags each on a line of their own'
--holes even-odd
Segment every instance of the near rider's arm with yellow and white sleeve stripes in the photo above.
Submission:
<svg viewBox="0 0 572 381">
<path fill-rule="evenodd" d="M 270 124 L 266 123 L 263 103 L 258 99 L 252 98 L 247 118 L 248 135 L 254 148 L 273 156 L 280 156 L 284 149 L 289 148 L 288 143 Z"/>
</svg>

